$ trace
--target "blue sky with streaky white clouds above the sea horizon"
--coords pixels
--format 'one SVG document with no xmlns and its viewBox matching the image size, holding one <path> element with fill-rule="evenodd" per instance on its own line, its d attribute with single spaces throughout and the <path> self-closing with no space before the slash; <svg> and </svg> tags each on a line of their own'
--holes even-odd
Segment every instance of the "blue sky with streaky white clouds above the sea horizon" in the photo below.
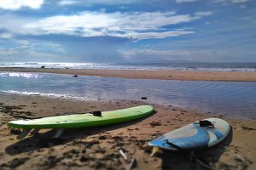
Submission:
<svg viewBox="0 0 256 170">
<path fill-rule="evenodd" d="M 0 62 L 172 61 L 256 62 L 256 1 L 0 1 Z"/>
</svg>

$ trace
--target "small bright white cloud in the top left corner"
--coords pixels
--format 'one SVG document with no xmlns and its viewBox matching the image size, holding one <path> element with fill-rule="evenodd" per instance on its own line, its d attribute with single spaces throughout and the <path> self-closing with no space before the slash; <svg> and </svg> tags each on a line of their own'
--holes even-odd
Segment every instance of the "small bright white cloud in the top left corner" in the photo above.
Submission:
<svg viewBox="0 0 256 170">
<path fill-rule="evenodd" d="M 22 7 L 40 8 L 44 0 L 2 0 L 0 1 L 0 8 L 17 10 Z"/>
</svg>

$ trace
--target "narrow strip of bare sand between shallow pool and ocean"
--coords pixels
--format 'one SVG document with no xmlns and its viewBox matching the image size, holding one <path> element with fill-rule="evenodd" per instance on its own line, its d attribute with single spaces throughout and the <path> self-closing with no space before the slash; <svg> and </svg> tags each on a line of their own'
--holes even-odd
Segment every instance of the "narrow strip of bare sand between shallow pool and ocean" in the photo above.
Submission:
<svg viewBox="0 0 256 170">
<path fill-rule="evenodd" d="M 49 68 L 0 68 L 0 71 L 43 72 L 96 77 L 124 77 L 137 79 L 256 82 L 256 72 L 236 71 L 141 71 L 141 70 L 93 70 Z"/>
</svg>

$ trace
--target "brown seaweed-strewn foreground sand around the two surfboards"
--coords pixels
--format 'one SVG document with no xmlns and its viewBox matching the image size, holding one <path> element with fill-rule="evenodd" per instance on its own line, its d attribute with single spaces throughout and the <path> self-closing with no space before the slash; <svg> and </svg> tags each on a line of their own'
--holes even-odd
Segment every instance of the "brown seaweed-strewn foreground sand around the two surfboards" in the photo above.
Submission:
<svg viewBox="0 0 256 170">
<path fill-rule="evenodd" d="M 108 127 L 66 130 L 60 139 L 49 139 L 53 131 L 42 130 L 36 136 L 15 139 L 19 130 L 6 126 L 24 117 L 54 116 L 57 113 L 112 111 L 143 101 L 76 101 L 41 96 L 0 94 L 0 169 L 256 169 L 256 121 L 207 115 L 173 106 L 153 105 L 154 115 L 134 122 Z M 222 117 L 230 122 L 232 133 L 221 144 L 195 151 L 197 159 L 186 152 L 160 150 L 151 157 L 148 142 L 190 122 L 206 117 Z M 229 149 L 225 149 L 227 146 Z M 125 160 L 119 150 L 127 156 Z M 233 153 L 234 152 L 234 153 Z M 237 155 L 241 156 L 237 156 Z"/>
</svg>

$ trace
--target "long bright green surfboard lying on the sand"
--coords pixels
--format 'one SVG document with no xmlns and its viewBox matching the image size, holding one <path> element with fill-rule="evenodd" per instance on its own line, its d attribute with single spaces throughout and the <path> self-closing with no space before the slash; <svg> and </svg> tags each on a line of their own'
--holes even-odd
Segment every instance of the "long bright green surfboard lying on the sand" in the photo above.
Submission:
<svg viewBox="0 0 256 170">
<path fill-rule="evenodd" d="M 97 127 L 136 120 L 153 113 L 151 105 L 140 105 L 118 111 L 103 111 L 102 116 L 90 113 L 67 116 L 49 116 L 32 120 L 18 120 L 8 123 L 9 127 L 26 129 Z"/>
</svg>

